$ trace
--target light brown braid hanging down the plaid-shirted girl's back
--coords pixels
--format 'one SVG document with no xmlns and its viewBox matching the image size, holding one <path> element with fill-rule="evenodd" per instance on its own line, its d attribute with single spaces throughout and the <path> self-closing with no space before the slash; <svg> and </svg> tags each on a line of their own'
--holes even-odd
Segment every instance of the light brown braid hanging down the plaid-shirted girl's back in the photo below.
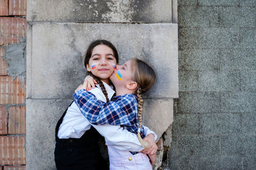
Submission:
<svg viewBox="0 0 256 170">
<path fill-rule="evenodd" d="M 139 141 L 140 141 L 141 145 L 143 146 L 143 148 L 148 149 L 148 148 L 150 148 L 149 143 L 143 141 L 143 139 L 141 138 L 141 135 L 140 135 L 140 129 L 141 129 L 141 124 L 142 124 L 142 106 L 143 106 L 143 99 L 141 96 L 141 87 L 139 87 L 137 89 L 137 97 L 138 97 L 138 118 L 139 118 L 138 138 L 139 138 Z"/>
</svg>

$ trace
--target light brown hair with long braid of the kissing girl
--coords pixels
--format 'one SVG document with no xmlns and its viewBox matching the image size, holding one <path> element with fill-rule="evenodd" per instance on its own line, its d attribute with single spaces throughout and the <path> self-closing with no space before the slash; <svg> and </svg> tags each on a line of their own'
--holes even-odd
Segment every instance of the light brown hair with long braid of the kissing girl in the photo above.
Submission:
<svg viewBox="0 0 256 170">
<path fill-rule="evenodd" d="M 139 118 L 139 129 L 138 129 L 138 138 L 143 146 L 143 148 L 148 149 L 150 146 L 147 142 L 141 139 L 140 129 L 142 124 L 142 107 L 143 107 L 143 98 L 142 94 L 147 92 L 156 82 L 157 76 L 154 69 L 148 64 L 140 59 L 134 60 L 133 78 L 134 81 L 138 84 L 138 89 L 136 90 L 138 97 L 138 118 Z"/>
</svg>

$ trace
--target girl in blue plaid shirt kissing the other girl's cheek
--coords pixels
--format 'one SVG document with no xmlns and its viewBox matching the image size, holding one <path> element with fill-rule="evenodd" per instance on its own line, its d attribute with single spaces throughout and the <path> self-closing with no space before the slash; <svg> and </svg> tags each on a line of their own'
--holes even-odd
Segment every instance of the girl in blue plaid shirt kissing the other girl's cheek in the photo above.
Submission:
<svg viewBox="0 0 256 170">
<path fill-rule="evenodd" d="M 73 95 L 74 101 L 91 124 L 122 125 L 128 131 L 138 133 L 139 139 L 141 136 L 144 138 L 141 94 L 156 82 L 154 69 L 142 60 L 131 59 L 122 66 L 116 66 L 109 79 L 116 89 L 116 96 L 112 101 L 104 103 L 97 100 L 92 93 L 83 89 L 83 85 Z M 152 169 L 147 155 L 141 152 L 116 150 L 112 146 L 108 146 L 108 152 L 110 169 Z M 156 154 L 148 156 L 154 160 Z"/>
</svg>

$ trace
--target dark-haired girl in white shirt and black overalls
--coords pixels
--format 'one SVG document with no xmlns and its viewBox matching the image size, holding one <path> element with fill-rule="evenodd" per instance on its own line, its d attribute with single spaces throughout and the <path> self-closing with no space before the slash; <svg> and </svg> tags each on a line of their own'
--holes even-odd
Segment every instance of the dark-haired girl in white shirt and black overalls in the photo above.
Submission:
<svg viewBox="0 0 256 170">
<path fill-rule="evenodd" d="M 115 93 L 108 83 L 116 62 L 118 62 L 118 53 L 109 41 L 96 40 L 88 47 L 84 65 L 88 69 L 88 74 L 98 82 L 98 88 L 91 91 L 97 99 L 106 102 Z M 148 135 L 146 138 L 154 141 L 152 137 L 154 132 L 147 127 L 145 130 Z M 99 133 L 105 137 L 109 145 L 118 150 L 143 150 L 135 134 L 123 129 L 120 125 L 91 126 L 77 104 L 72 103 L 56 125 L 54 160 L 57 169 L 109 169 L 100 155 Z"/>
</svg>

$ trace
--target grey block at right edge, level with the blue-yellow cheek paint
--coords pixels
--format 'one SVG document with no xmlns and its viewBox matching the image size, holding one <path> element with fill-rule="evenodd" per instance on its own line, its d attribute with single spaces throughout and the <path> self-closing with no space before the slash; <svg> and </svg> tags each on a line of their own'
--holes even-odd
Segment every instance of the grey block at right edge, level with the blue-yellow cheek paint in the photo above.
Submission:
<svg viewBox="0 0 256 170">
<path fill-rule="evenodd" d="M 256 92 L 256 70 L 241 71 L 241 90 Z"/>
</svg>

